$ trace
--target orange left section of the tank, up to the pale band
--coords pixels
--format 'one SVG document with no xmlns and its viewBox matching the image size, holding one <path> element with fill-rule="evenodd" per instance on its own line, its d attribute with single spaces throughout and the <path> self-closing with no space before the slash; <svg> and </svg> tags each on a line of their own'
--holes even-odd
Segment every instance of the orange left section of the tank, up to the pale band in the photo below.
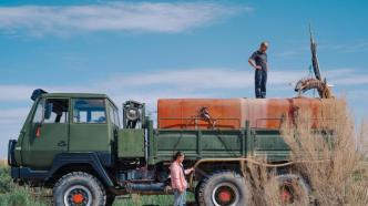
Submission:
<svg viewBox="0 0 368 206">
<path fill-rule="evenodd" d="M 238 128 L 241 99 L 164 99 L 157 103 L 159 128 Z M 203 114 L 207 111 L 207 119 Z"/>
</svg>

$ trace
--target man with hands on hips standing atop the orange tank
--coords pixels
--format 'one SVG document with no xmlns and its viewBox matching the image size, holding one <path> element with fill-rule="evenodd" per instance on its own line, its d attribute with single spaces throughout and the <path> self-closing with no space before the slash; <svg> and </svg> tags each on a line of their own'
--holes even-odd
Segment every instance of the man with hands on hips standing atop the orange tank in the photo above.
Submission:
<svg viewBox="0 0 368 206">
<path fill-rule="evenodd" d="M 267 51 L 268 42 L 264 41 L 260 47 L 255 51 L 248 62 L 255 69 L 255 93 L 257 99 L 266 97 L 266 83 L 267 83 Z"/>
</svg>

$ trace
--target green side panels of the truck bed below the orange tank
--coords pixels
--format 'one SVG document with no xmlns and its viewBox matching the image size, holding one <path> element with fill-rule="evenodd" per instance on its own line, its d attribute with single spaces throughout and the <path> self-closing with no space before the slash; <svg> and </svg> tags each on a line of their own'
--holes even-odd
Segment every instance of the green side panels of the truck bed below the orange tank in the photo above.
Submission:
<svg viewBox="0 0 368 206">
<path fill-rule="evenodd" d="M 248 123 L 246 123 L 248 125 Z M 255 157 L 287 161 L 289 148 L 279 130 L 152 130 L 149 134 L 149 163 L 171 161 L 175 152 L 186 159 Z"/>
</svg>

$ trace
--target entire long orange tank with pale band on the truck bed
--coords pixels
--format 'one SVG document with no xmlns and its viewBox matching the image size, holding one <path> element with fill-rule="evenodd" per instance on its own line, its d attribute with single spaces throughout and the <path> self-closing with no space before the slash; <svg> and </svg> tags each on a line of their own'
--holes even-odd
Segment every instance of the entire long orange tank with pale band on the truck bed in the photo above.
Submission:
<svg viewBox="0 0 368 206">
<path fill-rule="evenodd" d="M 321 107 L 334 109 L 334 99 L 161 99 L 157 102 L 159 128 L 279 128 L 287 117 L 310 113 L 311 125 L 327 120 Z M 301 110 L 303 109 L 303 110 Z M 324 115 L 324 116 L 323 116 Z"/>
</svg>

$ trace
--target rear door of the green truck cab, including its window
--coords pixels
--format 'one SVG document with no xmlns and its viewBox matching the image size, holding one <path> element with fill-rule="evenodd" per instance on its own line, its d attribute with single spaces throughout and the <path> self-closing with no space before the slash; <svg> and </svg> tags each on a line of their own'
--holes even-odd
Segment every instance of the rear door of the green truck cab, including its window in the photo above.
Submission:
<svg viewBox="0 0 368 206">
<path fill-rule="evenodd" d="M 73 122 L 70 127 L 71 152 L 99 152 L 110 158 L 111 130 L 105 99 L 73 99 Z"/>
</svg>

